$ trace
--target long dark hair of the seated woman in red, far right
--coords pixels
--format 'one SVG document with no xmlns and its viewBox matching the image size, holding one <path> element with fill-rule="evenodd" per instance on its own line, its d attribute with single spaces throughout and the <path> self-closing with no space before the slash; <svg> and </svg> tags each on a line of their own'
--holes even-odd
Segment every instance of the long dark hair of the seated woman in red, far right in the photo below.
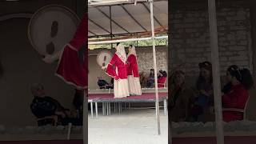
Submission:
<svg viewBox="0 0 256 144">
<path fill-rule="evenodd" d="M 239 69 L 238 66 L 232 65 L 228 67 L 227 71 L 232 77 L 235 77 L 239 82 L 241 82 L 242 85 L 246 87 L 246 90 L 250 90 L 254 87 L 254 79 L 250 74 L 250 70 L 246 68 Z"/>
</svg>

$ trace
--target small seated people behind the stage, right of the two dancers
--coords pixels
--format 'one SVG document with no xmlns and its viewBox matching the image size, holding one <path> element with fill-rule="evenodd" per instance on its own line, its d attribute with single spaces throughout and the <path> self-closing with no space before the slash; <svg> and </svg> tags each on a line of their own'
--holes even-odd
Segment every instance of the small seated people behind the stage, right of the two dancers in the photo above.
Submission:
<svg viewBox="0 0 256 144">
<path fill-rule="evenodd" d="M 158 87 L 165 87 L 167 73 L 166 71 L 159 70 L 158 72 Z M 145 71 L 139 73 L 139 79 L 142 88 L 154 88 L 154 69 L 150 69 L 150 73 L 146 74 Z"/>
</svg>

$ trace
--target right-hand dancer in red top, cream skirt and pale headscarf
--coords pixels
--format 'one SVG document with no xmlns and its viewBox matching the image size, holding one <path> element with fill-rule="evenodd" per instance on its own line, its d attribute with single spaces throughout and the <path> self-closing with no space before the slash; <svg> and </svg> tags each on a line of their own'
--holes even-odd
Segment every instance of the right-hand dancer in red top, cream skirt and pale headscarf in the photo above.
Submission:
<svg viewBox="0 0 256 144">
<path fill-rule="evenodd" d="M 135 47 L 129 46 L 129 54 L 127 56 L 127 72 L 130 95 L 142 95 L 142 87 L 139 82 L 138 63 Z"/>
</svg>

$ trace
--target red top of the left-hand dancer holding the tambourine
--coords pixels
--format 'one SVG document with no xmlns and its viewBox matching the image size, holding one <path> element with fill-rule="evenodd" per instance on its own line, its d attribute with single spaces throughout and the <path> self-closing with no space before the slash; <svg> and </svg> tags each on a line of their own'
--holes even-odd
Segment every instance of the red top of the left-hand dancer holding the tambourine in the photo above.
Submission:
<svg viewBox="0 0 256 144">
<path fill-rule="evenodd" d="M 116 69 L 118 69 L 118 71 L 116 71 Z M 116 80 L 127 79 L 126 63 L 122 62 L 117 54 L 114 54 L 110 63 L 106 67 L 106 74 L 110 75 L 110 77 L 115 78 Z"/>
</svg>

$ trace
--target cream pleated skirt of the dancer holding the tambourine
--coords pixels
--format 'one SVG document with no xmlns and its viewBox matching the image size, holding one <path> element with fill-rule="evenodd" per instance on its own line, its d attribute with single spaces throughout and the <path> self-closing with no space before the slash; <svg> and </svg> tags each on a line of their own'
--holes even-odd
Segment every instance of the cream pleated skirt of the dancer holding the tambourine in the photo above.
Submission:
<svg viewBox="0 0 256 144">
<path fill-rule="evenodd" d="M 114 80 L 114 98 L 130 96 L 127 79 Z"/>
</svg>

